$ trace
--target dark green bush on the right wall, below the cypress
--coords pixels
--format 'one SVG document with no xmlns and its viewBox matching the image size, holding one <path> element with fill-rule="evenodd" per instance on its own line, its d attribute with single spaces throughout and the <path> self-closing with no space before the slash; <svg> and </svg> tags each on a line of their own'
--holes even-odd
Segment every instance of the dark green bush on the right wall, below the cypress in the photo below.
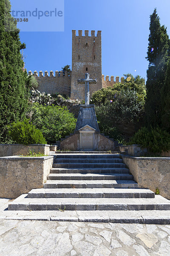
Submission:
<svg viewBox="0 0 170 256">
<path fill-rule="evenodd" d="M 170 134 L 159 127 L 150 129 L 142 127 L 128 144 L 141 144 L 152 153 L 161 153 L 170 150 Z"/>
</svg>

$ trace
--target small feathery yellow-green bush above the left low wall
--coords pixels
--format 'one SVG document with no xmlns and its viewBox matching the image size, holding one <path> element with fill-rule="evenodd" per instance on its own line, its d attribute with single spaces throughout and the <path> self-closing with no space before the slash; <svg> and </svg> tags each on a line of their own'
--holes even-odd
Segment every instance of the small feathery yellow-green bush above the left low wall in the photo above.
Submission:
<svg viewBox="0 0 170 256">
<path fill-rule="evenodd" d="M 22 122 L 13 122 L 8 126 L 8 134 L 19 144 L 46 144 L 46 140 L 39 129 L 29 123 L 28 119 Z"/>
</svg>

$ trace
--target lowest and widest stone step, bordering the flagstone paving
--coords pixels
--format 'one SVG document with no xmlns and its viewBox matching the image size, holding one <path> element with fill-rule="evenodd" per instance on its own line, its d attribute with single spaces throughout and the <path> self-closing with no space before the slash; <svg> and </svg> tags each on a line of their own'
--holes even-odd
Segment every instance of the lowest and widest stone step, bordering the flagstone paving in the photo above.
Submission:
<svg viewBox="0 0 170 256">
<path fill-rule="evenodd" d="M 170 224 L 170 210 L 141 211 L 3 211 L 1 219 L 40 221 Z"/>
</svg>

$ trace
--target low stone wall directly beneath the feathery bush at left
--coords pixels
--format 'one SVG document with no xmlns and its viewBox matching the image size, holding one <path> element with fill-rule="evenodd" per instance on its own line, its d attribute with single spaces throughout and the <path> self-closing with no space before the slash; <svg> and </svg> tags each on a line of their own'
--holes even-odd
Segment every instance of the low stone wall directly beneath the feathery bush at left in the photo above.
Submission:
<svg viewBox="0 0 170 256">
<path fill-rule="evenodd" d="M 34 153 L 42 153 L 45 155 L 49 154 L 50 145 L 47 144 L 0 144 L 0 157 L 26 155 L 29 150 Z"/>
</svg>

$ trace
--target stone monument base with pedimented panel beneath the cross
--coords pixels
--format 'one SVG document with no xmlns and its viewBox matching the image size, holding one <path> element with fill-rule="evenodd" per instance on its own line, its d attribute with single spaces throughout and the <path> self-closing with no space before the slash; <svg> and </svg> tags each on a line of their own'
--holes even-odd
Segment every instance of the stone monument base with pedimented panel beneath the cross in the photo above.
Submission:
<svg viewBox="0 0 170 256">
<path fill-rule="evenodd" d="M 60 143 L 60 150 L 114 151 L 113 140 L 100 134 L 94 105 L 80 105 L 74 134 Z"/>
</svg>

